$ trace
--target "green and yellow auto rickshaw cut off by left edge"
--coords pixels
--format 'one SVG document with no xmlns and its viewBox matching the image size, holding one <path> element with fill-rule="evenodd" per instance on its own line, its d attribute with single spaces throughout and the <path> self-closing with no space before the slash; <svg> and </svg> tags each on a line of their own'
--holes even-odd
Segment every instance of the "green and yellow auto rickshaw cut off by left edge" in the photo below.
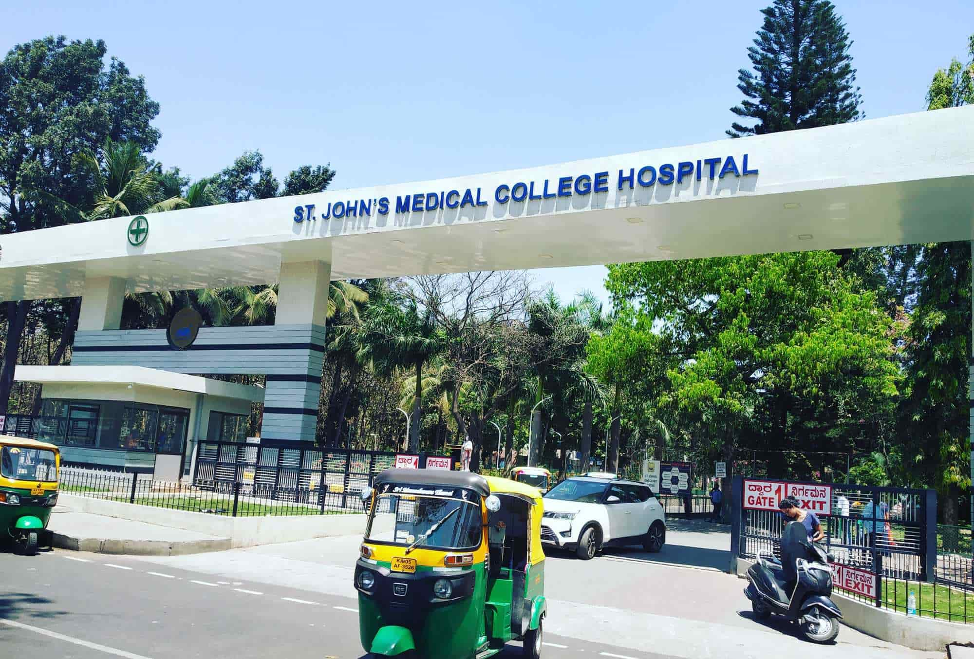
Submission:
<svg viewBox="0 0 974 659">
<path fill-rule="evenodd" d="M 30 556 L 57 503 L 59 469 L 57 446 L 0 435 L 0 528 Z"/>
</svg>

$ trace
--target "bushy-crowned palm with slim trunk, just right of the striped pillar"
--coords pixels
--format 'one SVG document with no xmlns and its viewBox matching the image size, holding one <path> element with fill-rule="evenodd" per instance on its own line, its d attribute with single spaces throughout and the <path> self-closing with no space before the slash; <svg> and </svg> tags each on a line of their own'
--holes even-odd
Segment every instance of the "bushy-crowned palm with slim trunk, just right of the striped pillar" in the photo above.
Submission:
<svg viewBox="0 0 974 659">
<path fill-rule="evenodd" d="M 390 375 L 396 368 L 415 373 L 413 419 L 409 429 L 409 450 L 419 452 L 420 412 L 423 404 L 423 366 L 443 350 L 443 335 L 430 310 L 420 311 L 415 300 L 390 296 L 370 305 L 362 318 L 360 364 Z"/>
</svg>

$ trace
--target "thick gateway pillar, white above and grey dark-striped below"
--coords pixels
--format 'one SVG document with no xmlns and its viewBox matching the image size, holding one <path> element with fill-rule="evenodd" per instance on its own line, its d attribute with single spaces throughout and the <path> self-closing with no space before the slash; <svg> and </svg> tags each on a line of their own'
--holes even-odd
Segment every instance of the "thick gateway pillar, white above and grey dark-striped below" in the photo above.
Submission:
<svg viewBox="0 0 974 659">
<path fill-rule="evenodd" d="M 330 282 L 331 265 L 324 261 L 281 263 L 275 327 L 310 342 L 291 372 L 267 375 L 262 440 L 315 440 Z"/>
</svg>

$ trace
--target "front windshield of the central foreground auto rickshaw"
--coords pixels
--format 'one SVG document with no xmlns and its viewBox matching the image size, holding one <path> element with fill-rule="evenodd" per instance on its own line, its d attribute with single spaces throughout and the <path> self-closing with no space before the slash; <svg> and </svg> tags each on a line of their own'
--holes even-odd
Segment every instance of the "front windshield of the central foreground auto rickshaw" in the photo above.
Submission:
<svg viewBox="0 0 974 659">
<path fill-rule="evenodd" d="M 458 490 L 454 490 L 458 491 Z M 468 550 L 480 546 L 480 497 L 386 493 L 376 497 L 365 539 L 406 548 Z"/>
</svg>

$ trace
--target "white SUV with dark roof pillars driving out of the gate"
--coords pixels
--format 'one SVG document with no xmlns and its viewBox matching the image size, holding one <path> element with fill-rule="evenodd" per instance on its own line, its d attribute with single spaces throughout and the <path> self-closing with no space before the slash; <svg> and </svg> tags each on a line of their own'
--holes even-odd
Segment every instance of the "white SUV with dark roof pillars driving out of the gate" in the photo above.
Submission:
<svg viewBox="0 0 974 659">
<path fill-rule="evenodd" d="M 647 485 L 579 476 L 544 494 L 542 542 L 574 550 L 582 561 L 609 546 L 658 552 L 666 542 L 666 517 Z"/>
</svg>

